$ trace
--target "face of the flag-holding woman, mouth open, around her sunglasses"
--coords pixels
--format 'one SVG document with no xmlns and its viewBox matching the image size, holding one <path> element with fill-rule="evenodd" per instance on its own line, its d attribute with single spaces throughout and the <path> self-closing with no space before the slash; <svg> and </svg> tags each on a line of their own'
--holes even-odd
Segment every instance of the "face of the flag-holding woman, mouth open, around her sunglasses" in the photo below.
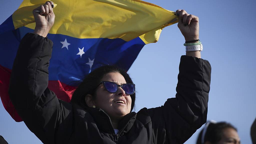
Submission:
<svg viewBox="0 0 256 144">
<path fill-rule="evenodd" d="M 106 74 L 102 81 L 112 81 L 118 85 L 126 84 L 124 77 L 118 72 Z M 108 92 L 104 85 L 101 84 L 95 91 L 95 106 L 103 109 L 111 118 L 121 119 L 131 111 L 132 99 L 130 95 L 125 94 L 124 90 L 119 87 L 114 94 Z M 120 103 L 118 101 L 123 101 Z M 118 102 L 118 103 L 117 103 Z"/>
</svg>

